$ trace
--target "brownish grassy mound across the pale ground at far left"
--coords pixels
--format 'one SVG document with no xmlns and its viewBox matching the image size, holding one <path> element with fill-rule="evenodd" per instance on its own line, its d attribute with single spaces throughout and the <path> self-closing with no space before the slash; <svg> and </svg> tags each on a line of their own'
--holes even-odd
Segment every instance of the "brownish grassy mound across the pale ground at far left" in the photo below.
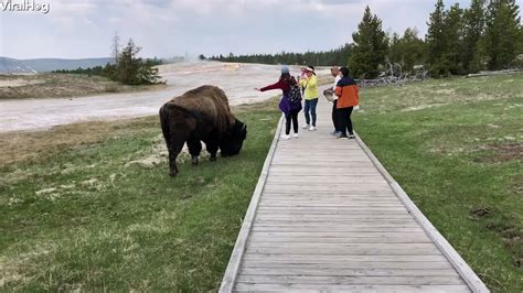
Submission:
<svg viewBox="0 0 523 293">
<path fill-rule="evenodd" d="M 166 85 L 126 86 L 103 76 L 79 74 L 0 74 L 0 100 L 70 98 L 99 94 L 156 90 L 164 87 Z"/>
</svg>

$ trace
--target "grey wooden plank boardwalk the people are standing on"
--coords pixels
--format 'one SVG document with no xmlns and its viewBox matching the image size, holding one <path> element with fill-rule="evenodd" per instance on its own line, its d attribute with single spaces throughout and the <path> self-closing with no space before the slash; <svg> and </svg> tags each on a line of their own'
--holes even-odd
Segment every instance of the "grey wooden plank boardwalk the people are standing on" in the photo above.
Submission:
<svg viewBox="0 0 523 293">
<path fill-rule="evenodd" d="M 299 139 L 280 123 L 220 291 L 488 292 L 330 107 Z"/>
</svg>

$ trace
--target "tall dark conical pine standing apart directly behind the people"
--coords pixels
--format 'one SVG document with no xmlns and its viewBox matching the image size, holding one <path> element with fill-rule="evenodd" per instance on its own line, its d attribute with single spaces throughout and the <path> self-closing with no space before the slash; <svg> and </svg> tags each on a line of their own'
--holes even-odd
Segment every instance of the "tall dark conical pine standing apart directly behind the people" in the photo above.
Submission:
<svg viewBox="0 0 523 293">
<path fill-rule="evenodd" d="M 374 78 L 380 74 L 378 67 L 384 63 L 388 50 L 388 40 L 382 30 L 382 21 L 376 14 L 372 15 L 366 7 L 357 32 L 352 34 L 353 53 L 349 67 L 354 76 Z"/>
</svg>

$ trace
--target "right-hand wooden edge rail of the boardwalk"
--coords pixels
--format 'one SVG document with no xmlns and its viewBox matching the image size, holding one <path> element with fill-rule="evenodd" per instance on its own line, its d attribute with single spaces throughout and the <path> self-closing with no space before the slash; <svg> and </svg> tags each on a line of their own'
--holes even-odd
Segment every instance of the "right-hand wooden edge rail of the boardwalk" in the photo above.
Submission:
<svg viewBox="0 0 523 293">
<path fill-rule="evenodd" d="M 459 256 L 458 251 L 445 239 L 445 237 L 433 226 L 433 224 L 425 217 L 414 202 L 408 197 L 399 184 L 391 176 L 377 158 L 366 146 L 365 142 L 355 134 L 356 141 L 363 151 L 366 153 L 372 163 L 377 167 L 380 173 L 385 177 L 396 196 L 405 205 L 407 210 L 413 215 L 416 221 L 421 226 L 427 236 L 434 241 L 438 249 L 447 257 L 452 267 L 458 271 L 465 282 L 469 285 L 472 292 L 490 292 L 479 276 L 472 271 L 467 262 Z"/>
</svg>

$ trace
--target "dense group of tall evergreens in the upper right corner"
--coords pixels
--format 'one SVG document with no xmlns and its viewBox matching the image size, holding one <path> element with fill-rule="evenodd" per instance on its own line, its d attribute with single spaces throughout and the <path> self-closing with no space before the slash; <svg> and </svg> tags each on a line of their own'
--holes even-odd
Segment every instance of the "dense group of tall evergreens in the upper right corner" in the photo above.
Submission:
<svg viewBox="0 0 523 293">
<path fill-rule="evenodd" d="M 460 75 L 521 66 L 523 28 L 515 0 L 472 0 L 430 14 L 426 36 L 433 75 Z"/>
</svg>

